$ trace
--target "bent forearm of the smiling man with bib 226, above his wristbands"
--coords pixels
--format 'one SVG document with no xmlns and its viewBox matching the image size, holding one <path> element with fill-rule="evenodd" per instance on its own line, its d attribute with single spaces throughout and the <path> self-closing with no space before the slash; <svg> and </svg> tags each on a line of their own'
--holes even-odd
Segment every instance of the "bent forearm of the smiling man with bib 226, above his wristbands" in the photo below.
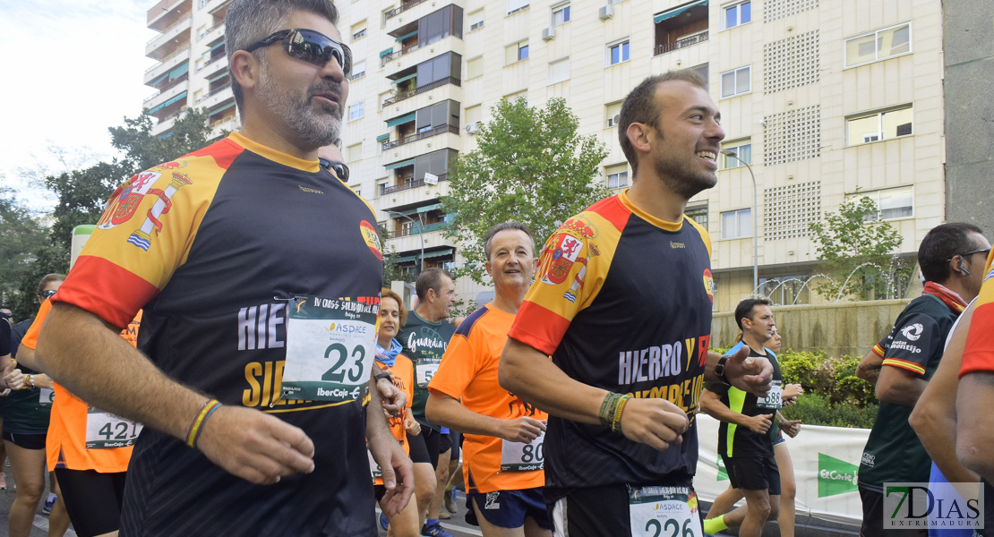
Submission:
<svg viewBox="0 0 994 537">
<path fill-rule="evenodd" d="M 570 378 L 548 356 L 508 337 L 498 369 L 500 385 L 553 416 L 599 424 L 606 390 Z"/>
</svg>

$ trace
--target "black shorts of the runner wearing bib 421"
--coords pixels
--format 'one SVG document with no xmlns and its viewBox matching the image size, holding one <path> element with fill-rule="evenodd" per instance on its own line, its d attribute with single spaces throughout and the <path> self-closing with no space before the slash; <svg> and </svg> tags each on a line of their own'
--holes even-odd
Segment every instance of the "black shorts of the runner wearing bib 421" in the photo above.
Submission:
<svg viewBox="0 0 994 537">
<path fill-rule="evenodd" d="M 63 501 L 76 534 L 101 535 L 120 529 L 126 471 L 56 469 Z"/>
</svg>

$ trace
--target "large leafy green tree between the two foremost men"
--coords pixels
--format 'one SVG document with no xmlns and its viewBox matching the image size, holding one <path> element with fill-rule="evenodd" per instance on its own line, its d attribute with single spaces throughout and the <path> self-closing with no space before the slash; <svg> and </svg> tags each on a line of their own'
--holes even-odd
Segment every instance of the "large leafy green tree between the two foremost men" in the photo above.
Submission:
<svg viewBox="0 0 994 537">
<path fill-rule="evenodd" d="M 477 132 L 477 149 L 449 166 L 449 195 L 441 198 L 453 215 L 445 234 L 459 240 L 466 260 L 454 275 L 479 283 L 483 235 L 492 225 L 527 223 L 541 248 L 563 220 L 611 194 L 593 180 L 607 151 L 595 137 L 578 134 L 564 99 L 545 108 L 505 99 L 491 111 L 493 119 Z"/>
</svg>

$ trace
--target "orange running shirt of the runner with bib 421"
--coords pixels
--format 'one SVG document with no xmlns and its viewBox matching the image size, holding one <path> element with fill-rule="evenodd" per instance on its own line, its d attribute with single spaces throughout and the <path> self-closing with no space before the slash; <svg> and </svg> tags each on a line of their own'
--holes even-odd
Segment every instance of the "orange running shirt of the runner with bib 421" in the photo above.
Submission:
<svg viewBox="0 0 994 537">
<path fill-rule="evenodd" d="M 46 300 L 38 310 L 38 317 L 21 339 L 21 343 L 34 350 L 38 346 L 38 333 L 42 323 L 52 311 L 52 302 Z M 135 345 L 141 312 L 128 327 L 121 331 L 121 337 Z M 95 470 L 100 473 L 127 471 L 134 446 L 104 450 L 86 449 L 86 415 L 89 405 L 73 395 L 62 384 L 53 382 L 55 400 L 52 404 L 52 417 L 49 420 L 49 436 L 45 451 L 49 469 Z"/>
</svg>

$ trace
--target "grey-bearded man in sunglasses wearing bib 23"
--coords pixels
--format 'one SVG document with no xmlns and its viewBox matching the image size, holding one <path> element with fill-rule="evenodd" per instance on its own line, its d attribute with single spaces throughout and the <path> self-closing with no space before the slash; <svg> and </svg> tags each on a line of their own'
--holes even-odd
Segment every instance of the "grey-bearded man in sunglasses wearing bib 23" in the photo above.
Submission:
<svg viewBox="0 0 994 537">
<path fill-rule="evenodd" d="M 376 215 L 318 163 L 348 96 L 336 23 L 327 0 L 233 2 L 242 128 L 122 185 L 54 299 L 42 368 L 145 425 L 121 535 L 375 535 L 367 437 L 387 509 L 410 498 L 369 390 Z M 117 332 L 142 308 L 136 351 Z"/>
</svg>

